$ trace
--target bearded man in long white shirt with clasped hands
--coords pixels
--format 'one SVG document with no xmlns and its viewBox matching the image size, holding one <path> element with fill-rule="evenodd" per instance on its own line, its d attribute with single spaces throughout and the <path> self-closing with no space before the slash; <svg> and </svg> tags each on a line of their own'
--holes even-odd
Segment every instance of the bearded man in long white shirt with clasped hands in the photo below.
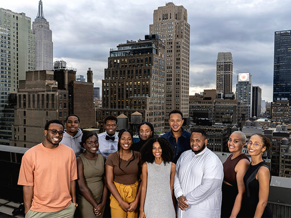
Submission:
<svg viewBox="0 0 291 218">
<path fill-rule="evenodd" d="M 206 132 L 196 128 L 190 137 L 192 150 L 178 159 L 174 182 L 178 218 L 220 218 L 223 165 L 207 147 Z"/>
</svg>

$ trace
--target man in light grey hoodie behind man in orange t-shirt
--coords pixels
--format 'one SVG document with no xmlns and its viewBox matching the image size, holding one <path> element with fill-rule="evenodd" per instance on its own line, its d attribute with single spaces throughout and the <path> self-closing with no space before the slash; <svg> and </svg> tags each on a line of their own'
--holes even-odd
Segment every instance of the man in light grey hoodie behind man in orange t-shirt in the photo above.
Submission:
<svg viewBox="0 0 291 218">
<path fill-rule="evenodd" d="M 80 142 L 83 133 L 80 129 L 80 118 L 76 114 L 70 114 L 65 119 L 65 128 L 61 143 L 72 148 L 76 156 L 81 155 L 83 148 Z"/>
</svg>

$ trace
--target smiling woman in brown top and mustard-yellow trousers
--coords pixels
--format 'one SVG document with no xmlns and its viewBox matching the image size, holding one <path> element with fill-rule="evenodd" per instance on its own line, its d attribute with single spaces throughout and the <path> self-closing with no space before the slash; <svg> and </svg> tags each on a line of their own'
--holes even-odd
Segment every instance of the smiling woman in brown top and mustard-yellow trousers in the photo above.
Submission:
<svg viewBox="0 0 291 218">
<path fill-rule="evenodd" d="M 141 156 L 132 151 L 132 133 L 122 129 L 118 134 L 118 150 L 106 160 L 106 181 L 111 192 L 112 218 L 136 218 L 140 199 L 139 177 Z"/>
</svg>

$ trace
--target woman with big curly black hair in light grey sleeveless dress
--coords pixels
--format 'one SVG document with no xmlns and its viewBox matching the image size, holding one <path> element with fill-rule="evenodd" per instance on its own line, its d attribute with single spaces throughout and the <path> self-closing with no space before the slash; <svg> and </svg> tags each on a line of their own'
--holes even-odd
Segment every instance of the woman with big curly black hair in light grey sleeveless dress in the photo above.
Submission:
<svg viewBox="0 0 291 218">
<path fill-rule="evenodd" d="M 140 218 L 175 218 L 174 177 L 176 165 L 172 145 L 165 138 L 148 140 L 141 149 L 142 193 Z"/>
</svg>

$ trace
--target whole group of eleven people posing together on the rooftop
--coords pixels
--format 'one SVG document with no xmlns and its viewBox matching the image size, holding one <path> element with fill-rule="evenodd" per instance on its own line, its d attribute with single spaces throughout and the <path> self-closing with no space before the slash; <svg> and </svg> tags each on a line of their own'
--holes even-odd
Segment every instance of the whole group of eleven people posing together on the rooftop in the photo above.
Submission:
<svg viewBox="0 0 291 218">
<path fill-rule="evenodd" d="M 207 148 L 206 132 L 187 132 L 183 122 L 179 110 L 171 111 L 171 130 L 159 138 L 144 122 L 133 143 L 130 130 L 117 135 L 114 116 L 99 136 L 82 133 L 75 114 L 65 126 L 49 121 L 45 140 L 22 158 L 25 217 L 272 217 L 266 206 L 271 174 L 262 159 L 270 141 L 254 134 L 246 142 L 242 132 L 233 132 L 232 154 L 222 164 Z M 242 153 L 245 143 L 251 163 Z"/>
</svg>

